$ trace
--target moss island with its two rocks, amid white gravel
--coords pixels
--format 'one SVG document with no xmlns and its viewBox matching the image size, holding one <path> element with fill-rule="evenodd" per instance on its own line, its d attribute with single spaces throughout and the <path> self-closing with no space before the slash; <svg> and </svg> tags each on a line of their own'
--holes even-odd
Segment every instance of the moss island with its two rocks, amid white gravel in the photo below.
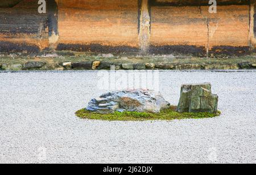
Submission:
<svg viewBox="0 0 256 175">
<path fill-rule="evenodd" d="M 76 112 L 81 118 L 103 120 L 154 120 L 207 118 L 220 115 L 218 96 L 210 83 L 183 84 L 177 106 L 170 105 L 158 92 L 145 89 L 115 91 L 89 101 Z"/>
</svg>

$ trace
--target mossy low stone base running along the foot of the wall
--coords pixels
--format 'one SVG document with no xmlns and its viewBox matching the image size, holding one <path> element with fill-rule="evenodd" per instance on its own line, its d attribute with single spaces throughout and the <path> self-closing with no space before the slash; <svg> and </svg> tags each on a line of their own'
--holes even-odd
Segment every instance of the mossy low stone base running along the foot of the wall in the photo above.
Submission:
<svg viewBox="0 0 256 175">
<path fill-rule="evenodd" d="M 18 70 L 242 70 L 256 69 L 256 57 L 127 56 L 77 52 L 0 54 L 0 69 Z"/>
</svg>

